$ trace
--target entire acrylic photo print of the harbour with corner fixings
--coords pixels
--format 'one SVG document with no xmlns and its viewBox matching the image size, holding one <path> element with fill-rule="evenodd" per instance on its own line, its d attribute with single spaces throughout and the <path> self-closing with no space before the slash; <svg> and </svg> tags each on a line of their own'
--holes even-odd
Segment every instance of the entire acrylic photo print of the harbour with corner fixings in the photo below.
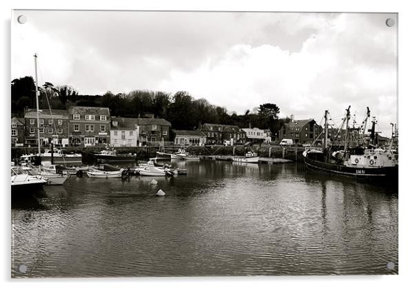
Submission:
<svg viewBox="0 0 415 288">
<path fill-rule="evenodd" d="M 14 10 L 12 278 L 398 274 L 398 14 Z"/>
</svg>

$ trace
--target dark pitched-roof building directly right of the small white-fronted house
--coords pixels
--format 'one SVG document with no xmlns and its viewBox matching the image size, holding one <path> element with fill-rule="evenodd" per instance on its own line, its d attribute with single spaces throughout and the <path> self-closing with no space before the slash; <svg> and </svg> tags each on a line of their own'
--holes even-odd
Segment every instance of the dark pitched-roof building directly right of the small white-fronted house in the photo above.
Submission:
<svg viewBox="0 0 415 288">
<path fill-rule="evenodd" d="M 172 124 L 169 121 L 161 118 L 139 118 L 137 119 L 137 137 L 139 146 L 158 144 L 161 139 L 169 141 L 170 127 Z"/>
</svg>

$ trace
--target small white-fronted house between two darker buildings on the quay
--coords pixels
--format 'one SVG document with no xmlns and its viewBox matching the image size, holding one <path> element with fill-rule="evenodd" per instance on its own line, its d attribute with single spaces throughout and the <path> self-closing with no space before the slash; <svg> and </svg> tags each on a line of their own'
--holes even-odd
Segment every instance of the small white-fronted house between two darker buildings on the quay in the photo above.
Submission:
<svg viewBox="0 0 415 288">
<path fill-rule="evenodd" d="M 111 146 L 132 147 L 137 145 L 137 119 L 112 117 L 110 131 Z"/>
</svg>

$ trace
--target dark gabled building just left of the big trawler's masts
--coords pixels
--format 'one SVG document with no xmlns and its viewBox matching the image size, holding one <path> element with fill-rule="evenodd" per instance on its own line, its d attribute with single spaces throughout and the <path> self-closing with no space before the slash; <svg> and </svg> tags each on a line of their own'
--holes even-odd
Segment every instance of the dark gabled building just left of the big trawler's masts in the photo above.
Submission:
<svg viewBox="0 0 415 288">
<path fill-rule="evenodd" d="M 294 143 L 311 144 L 323 131 L 323 127 L 316 124 L 314 119 L 293 120 L 284 123 L 280 130 L 280 140 L 292 139 Z"/>
</svg>

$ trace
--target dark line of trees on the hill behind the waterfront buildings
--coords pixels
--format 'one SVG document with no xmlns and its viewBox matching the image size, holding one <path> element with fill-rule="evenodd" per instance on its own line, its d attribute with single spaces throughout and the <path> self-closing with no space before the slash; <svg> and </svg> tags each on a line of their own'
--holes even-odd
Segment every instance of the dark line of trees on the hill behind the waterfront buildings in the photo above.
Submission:
<svg viewBox="0 0 415 288">
<path fill-rule="evenodd" d="M 66 109 L 70 105 L 109 107 L 112 116 L 143 117 L 154 114 L 163 118 L 176 130 L 196 130 L 203 123 L 238 125 L 270 129 L 273 136 L 283 123 L 291 118 L 279 118 L 279 107 L 274 103 L 263 103 L 258 108 L 243 114 L 228 112 L 225 107 L 212 105 L 206 99 L 195 99 L 185 91 L 174 94 L 161 91 L 133 90 L 114 94 L 82 95 L 70 85 L 54 86 L 46 82 L 38 87 L 41 109 Z M 26 107 L 35 108 L 35 87 L 31 76 L 14 79 L 11 83 L 12 114 L 23 116 Z"/>
</svg>

